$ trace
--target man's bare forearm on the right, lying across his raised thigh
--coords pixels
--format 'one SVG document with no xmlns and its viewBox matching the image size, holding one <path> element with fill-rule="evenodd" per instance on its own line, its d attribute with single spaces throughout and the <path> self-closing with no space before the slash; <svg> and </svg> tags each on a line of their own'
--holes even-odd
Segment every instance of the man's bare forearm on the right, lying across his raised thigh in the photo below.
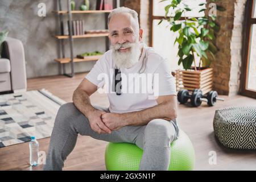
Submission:
<svg viewBox="0 0 256 182">
<path fill-rule="evenodd" d="M 176 107 L 171 102 L 163 102 L 148 109 L 122 114 L 123 122 L 130 126 L 146 125 L 152 119 L 170 121 L 176 117 Z"/>
</svg>

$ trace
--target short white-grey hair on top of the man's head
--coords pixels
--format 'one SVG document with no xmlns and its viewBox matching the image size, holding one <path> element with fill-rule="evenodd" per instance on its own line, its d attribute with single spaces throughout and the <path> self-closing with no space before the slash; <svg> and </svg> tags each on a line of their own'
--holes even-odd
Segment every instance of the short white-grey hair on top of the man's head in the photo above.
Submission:
<svg viewBox="0 0 256 182">
<path fill-rule="evenodd" d="M 108 27 L 109 27 L 109 22 L 110 22 L 110 19 L 112 18 L 112 16 L 114 16 L 116 14 L 125 14 L 125 13 L 129 13 L 133 17 L 133 19 L 135 20 L 135 29 L 136 29 L 136 31 L 139 31 L 138 13 L 132 9 L 129 9 L 128 7 L 123 7 L 123 6 L 113 9 L 112 12 L 109 14 Z"/>
</svg>

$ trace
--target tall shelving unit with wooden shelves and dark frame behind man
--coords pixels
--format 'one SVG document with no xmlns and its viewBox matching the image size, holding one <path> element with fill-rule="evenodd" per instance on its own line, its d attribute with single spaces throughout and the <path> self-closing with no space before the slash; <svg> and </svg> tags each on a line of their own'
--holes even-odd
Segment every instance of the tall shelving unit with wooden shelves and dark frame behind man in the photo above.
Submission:
<svg viewBox="0 0 256 182">
<path fill-rule="evenodd" d="M 106 49 L 109 49 L 109 39 L 108 35 L 109 33 L 101 33 L 101 34 L 84 34 L 84 35 L 73 35 L 72 32 L 72 15 L 75 14 L 92 14 L 92 13 L 104 13 L 105 14 L 105 29 L 108 29 L 108 14 L 111 13 L 112 10 L 86 10 L 86 11 L 80 11 L 80 10 L 75 10 L 71 11 L 71 0 L 67 0 L 67 7 L 68 10 L 63 10 L 61 6 L 61 1 L 64 0 L 57 0 L 57 11 L 52 11 L 53 13 L 56 13 L 59 16 L 59 22 L 60 22 L 60 34 L 61 35 L 55 35 L 55 38 L 59 40 L 59 47 L 61 50 L 61 58 L 55 59 L 57 63 L 60 64 L 61 71 L 63 75 L 68 76 L 68 77 L 73 77 L 75 75 L 74 71 L 74 63 L 77 62 L 82 62 L 82 61 L 95 61 L 100 59 L 102 55 L 97 55 L 97 56 L 86 56 L 84 59 L 79 59 L 74 57 L 73 55 L 73 39 L 79 39 L 79 38 L 96 38 L 96 37 L 105 37 L 106 38 Z M 115 7 L 118 7 L 120 5 L 119 0 L 116 0 L 115 2 Z M 68 15 L 68 35 L 64 35 L 64 20 L 63 16 Z M 68 40 L 69 41 L 69 50 L 70 50 L 70 56 L 66 57 L 65 56 L 65 49 L 64 49 L 64 41 Z M 65 71 L 65 64 L 71 64 L 71 73 L 68 74 Z"/>
</svg>

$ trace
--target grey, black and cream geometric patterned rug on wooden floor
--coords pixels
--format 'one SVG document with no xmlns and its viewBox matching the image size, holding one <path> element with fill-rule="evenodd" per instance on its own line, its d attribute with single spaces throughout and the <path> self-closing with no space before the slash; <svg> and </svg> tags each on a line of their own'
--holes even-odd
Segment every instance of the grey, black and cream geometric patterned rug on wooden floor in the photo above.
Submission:
<svg viewBox="0 0 256 182">
<path fill-rule="evenodd" d="M 0 147 L 50 137 L 63 104 L 45 89 L 0 95 Z"/>
</svg>

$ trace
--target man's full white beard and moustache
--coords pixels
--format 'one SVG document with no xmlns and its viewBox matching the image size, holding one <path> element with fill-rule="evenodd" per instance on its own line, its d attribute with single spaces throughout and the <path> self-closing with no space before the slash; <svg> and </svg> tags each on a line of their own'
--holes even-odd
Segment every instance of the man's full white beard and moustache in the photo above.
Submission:
<svg viewBox="0 0 256 182">
<path fill-rule="evenodd" d="M 118 49 L 121 47 L 130 47 L 130 49 L 127 52 L 119 52 Z M 110 46 L 110 49 L 112 49 L 114 64 L 119 69 L 133 67 L 138 63 L 141 55 L 140 42 L 138 40 L 135 43 L 115 44 L 115 46 Z"/>
</svg>

